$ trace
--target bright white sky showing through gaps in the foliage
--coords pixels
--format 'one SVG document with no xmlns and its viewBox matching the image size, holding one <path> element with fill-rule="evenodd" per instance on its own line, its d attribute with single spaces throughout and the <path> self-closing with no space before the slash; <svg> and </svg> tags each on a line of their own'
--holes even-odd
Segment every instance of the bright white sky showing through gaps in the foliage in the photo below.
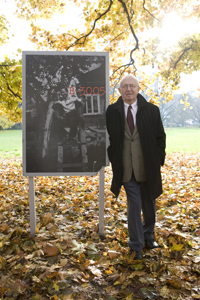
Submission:
<svg viewBox="0 0 200 300">
<path fill-rule="evenodd" d="M 13 53 L 16 53 L 17 48 L 22 50 L 36 50 L 34 44 L 28 40 L 28 35 L 30 32 L 27 22 L 25 20 L 20 20 L 14 14 L 16 10 L 14 0 L 1 0 L 0 13 L 4 14 L 11 23 L 11 33 L 10 42 L 0 47 L 0 60 L 3 60 L 5 54 L 8 57 L 12 57 Z M 66 12 L 63 15 L 55 15 L 55 17 L 49 21 L 40 21 L 42 28 L 50 29 L 51 31 L 56 32 L 60 24 L 66 23 L 66 29 L 74 27 L 74 22 L 76 20 L 76 26 L 81 29 L 84 26 L 84 20 L 81 18 L 81 8 L 69 4 L 66 9 Z M 178 17 L 175 13 L 172 13 L 166 16 L 163 23 L 162 31 L 160 31 L 160 37 L 165 37 L 161 41 L 161 47 L 166 47 L 166 45 L 173 45 L 176 42 L 177 37 L 180 37 L 185 32 L 190 33 L 195 24 L 192 21 L 188 23 L 183 23 L 181 18 Z M 200 31 L 200 24 L 198 25 Z M 196 28 L 196 27 L 195 27 Z M 152 33 L 153 34 L 153 33 Z M 200 72 L 194 72 L 192 75 L 183 74 L 180 92 L 188 92 L 197 90 L 200 87 Z"/>
</svg>

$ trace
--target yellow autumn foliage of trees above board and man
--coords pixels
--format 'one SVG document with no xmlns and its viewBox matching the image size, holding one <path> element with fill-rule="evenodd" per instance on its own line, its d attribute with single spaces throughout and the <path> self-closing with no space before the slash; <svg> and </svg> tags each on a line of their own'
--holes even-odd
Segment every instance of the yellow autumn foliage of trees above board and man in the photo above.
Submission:
<svg viewBox="0 0 200 300">
<path fill-rule="evenodd" d="M 156 78 L 162 84 L 160 97 L 173 98 L 182 72 L 191 74 L 200 69 L 200 34 L 186 33 L 173 46 L 162 48 L 159 36 L 153 30 L 161 28 L 164 17 L 177 12 L 184 21 L 200 18 L 199 0 L 146 1 L 146 0 L 15 0 L 19 18 L 30 25 L 30 40 L 38 50 L 56 51 L 108 51 L 110 53 L 110 84 L 114 88 L 121 76 L 132 73 L 141 78 L 141 87 L 158 101 L 151 88 Z M 55 13 L 64 13 L 69 5 L 80 6 L 85 21 L 82 31 L 61 27 L 57 33 L 41 28 L 37 20 L 51 20 Z M 7 41 L 7 21 L 0 16 L 0 45 Z M 67 20 L 66 20 L 67 22 Z M 157 66 L 153 78 L 145 73 L 144 66 Z M 13 121 L 21 118 L 21 60 L 5 58 L 0 67 L 0 114 Z M 143 71 L 142 71 L 143 70 Z M 113 95 L 114 96 L 114 95 Z M 111 96 L 111 98 L 113 98 Z"/>
</svg>

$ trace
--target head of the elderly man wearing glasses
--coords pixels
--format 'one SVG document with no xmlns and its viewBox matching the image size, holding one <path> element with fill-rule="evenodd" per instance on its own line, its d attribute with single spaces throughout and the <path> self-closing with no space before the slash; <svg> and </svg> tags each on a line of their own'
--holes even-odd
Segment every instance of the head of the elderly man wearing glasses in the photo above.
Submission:
<svg viewBox="0 0 200 300">
<path fill-rule="evenodd" d="M 122 80 L 121 87 L 118 90 L 124 102 L 132 104 L 137 100 L 137 94 L 139 93 L 140 87 L 134 78 L 126 77 Z"/>
</svg>

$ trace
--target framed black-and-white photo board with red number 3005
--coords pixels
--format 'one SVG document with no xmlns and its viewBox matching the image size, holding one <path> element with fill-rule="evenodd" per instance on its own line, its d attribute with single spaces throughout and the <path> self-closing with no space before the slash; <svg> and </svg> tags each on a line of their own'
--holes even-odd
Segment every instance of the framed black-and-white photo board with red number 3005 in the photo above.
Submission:
<svg viewBox="0 0 200 300">
<path fill-rule="evenodd" d="M 107 52 L 23 52 L 24 175 L 93 175 L 108 164 Z"/>
</svg>

